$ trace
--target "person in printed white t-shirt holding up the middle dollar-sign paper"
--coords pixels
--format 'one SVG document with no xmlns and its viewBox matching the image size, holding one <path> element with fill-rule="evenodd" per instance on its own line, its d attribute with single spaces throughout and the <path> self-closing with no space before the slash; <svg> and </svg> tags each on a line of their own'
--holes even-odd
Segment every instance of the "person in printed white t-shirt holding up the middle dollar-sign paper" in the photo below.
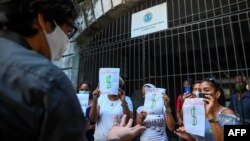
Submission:
<svg viewBox="0 0 250 141">
<path fill-rule="evenodd" d="M 158 88 L 148 88 L 147 91 L 151 89 Z M 146 130 L 141 134 L 141 141 L 167 141 L 168 138 L 166 135 L 166 124 L 169 130 L 174 129 L 175 121 L 169 107 L 170 99 L 164 93 L 159 94 L 161 95 L 164 102 L 163 106 L 160 109 L 161 111 L 165 112 L 156 112 L 150 108 L 147 108 L 145 104 L 144 106 L 140 106 L 137 109 L 137 124 L 146 126 Z M 153 98 L 151 97 L 151 99 Z"/>
</svg>

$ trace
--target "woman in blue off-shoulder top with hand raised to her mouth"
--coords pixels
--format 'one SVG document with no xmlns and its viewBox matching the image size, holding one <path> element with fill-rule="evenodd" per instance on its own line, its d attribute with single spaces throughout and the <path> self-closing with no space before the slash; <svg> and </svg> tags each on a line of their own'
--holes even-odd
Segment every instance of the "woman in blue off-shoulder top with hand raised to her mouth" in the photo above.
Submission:
<svg viewBox="0 0 250 141">
<path fill-rule="evenodd" d="M 232 110 L 219 104 L 218 99 L 221 96 L 221 92 L 219 86 L 213 79 L 202 80 L 200 89 L 201 94 L 205 97 L 205 136 L 189 134 L 184 127 L 178 128 L 175 133 L 188 141 L 223 141 L 223 126 L 236 125 L 239 123 L 239 120 Z"/>
</svg>

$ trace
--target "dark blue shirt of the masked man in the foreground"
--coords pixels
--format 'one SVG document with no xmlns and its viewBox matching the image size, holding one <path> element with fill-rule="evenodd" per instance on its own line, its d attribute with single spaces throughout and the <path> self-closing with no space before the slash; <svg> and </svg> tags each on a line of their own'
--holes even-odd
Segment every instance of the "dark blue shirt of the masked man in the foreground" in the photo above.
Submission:
<svg viewBox="0 0 250 141">
<path fill-rule="evenodd" d="M 14 33 L 0 31 L 0 141 L 82 141 L 71 82 Z"/>
</svg>

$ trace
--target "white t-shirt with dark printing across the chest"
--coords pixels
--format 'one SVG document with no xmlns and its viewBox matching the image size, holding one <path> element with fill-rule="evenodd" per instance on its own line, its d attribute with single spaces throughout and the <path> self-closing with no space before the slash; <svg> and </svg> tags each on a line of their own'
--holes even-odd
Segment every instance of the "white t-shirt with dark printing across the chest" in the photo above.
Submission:
<svg viewBox="0 0 250 141">
<path fill-rule="evenodd" d="M 143 109 L 143 106 L 138 107 L 136 110 L 137 113 L 140 113 L 142 110 L 145 112 L 146 109 Z M 152 115 L 148 114 L 144 120 L 146 130 L 143 131 L 140 137 L 140 141 L 167 141 L 166 134 L 166 119 L 164 114 Z"/>
</svg>

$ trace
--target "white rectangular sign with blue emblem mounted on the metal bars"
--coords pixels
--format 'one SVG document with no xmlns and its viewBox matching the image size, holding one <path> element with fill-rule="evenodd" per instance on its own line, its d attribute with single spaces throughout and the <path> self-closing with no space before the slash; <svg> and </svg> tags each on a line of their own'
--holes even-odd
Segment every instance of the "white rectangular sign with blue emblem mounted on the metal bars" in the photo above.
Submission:
<svg viewBox="0 0 250 141">
<path fill-rule="evenodd" d="M 166 2 L 132 14 L 131 38 L 167 28 Z"/>
</svg>

